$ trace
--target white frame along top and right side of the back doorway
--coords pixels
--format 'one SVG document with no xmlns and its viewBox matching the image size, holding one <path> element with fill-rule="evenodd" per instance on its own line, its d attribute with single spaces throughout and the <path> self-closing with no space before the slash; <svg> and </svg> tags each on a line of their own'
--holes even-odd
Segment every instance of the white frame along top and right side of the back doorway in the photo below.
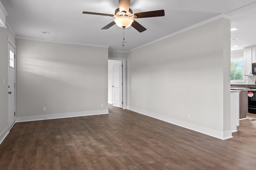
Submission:
<svg viewBox="0 0 256 170">
<path fill-rule="evenodd" d="M 126 58 L 108 57 L 108 60 L 119 60 L 123 63 L 123 109 L 127 109 L 126 97 Z"/>
</svg>

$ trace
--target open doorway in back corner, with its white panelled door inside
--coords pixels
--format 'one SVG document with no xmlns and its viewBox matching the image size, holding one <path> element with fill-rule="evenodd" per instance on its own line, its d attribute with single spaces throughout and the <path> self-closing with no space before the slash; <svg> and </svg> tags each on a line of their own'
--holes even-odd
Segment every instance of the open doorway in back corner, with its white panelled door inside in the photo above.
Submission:
<svg viewBox="0 0 256 170">
<path fill-rule="evenodd" d="M 113 76 L 115 78 L 112 78 Z M 108 103 L 115 107 L 127 108 L 126 59 L 124 58 L 108 58 Z"/>
</svg>

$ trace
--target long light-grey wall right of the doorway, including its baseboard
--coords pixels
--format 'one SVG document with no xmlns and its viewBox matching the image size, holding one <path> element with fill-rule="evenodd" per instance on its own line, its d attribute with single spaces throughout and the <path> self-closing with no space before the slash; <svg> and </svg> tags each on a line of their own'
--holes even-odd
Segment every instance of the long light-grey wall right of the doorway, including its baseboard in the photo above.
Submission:
<svg viewBox="0 0 256 170">
<path fill-rule="evenodd" d="M 230 20 L 132 51 L 127 65 L 128 109 L 220 139 L 231 137 Z"/>
</svg>

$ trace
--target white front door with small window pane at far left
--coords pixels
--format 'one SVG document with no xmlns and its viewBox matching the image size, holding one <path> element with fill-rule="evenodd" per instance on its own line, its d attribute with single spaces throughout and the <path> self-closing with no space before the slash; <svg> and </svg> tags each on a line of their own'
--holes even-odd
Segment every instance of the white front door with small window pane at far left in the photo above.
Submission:
<svg viewBox="0 0 256 170">
<path fill-rule="evenodd" d="M 8 129 L 15 122 L 15 48 L 8 41 Z"/>
</svg>

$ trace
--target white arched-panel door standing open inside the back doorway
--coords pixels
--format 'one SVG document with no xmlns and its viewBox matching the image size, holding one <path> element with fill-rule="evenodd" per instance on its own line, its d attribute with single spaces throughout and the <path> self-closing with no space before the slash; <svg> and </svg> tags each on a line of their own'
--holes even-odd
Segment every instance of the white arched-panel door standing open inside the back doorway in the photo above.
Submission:
<svg viewBox="0 0 256 170">
<path fill-rule="evenodd" d="M 122 61 L 112 63 L 112 105 L 123 108 Z"/>
</svg>

